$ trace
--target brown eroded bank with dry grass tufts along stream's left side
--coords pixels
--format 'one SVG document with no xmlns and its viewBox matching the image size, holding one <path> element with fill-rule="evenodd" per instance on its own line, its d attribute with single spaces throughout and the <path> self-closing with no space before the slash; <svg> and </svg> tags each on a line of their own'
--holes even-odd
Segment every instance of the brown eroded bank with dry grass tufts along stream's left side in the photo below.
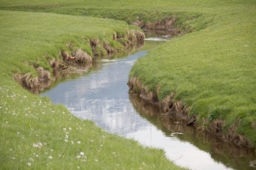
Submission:
<svg viewBox="0 0 256 170">
<path fill-rule="evenodd" d="M 98 58 L 109 59 L 140 49 L 144 45 L 145 35 L 138 30 L 127 30 L 125 35 L 114 32 L 112 37 L 113 41 L 118 42 L 121 47 L 111 46 L 106 40 L 91 38 L 88 39 L 88 44 L 90 44 L 93 55 L 89 55 L 86 51 L 67 42 L 66 47 L 69 50 L 60 50 L 58 59 L 48 60 L 52 71 L 45 70 L 37 63 L 33 63 L 38 75 L 32 73 L 15 74 L 13 78 L 30 92 L 38 93 L 49 88 L 59 77 L 86 73 L 93 65 L 94 60 Z"/>
</svg>

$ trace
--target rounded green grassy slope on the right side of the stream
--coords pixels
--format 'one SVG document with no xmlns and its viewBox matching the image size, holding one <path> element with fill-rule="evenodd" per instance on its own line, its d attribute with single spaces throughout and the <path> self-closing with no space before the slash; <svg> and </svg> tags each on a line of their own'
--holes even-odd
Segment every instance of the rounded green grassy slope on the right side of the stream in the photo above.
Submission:
<svg viewBox="0 0 256 170">
<path fill-rule="evenodd" d="M 160 99 L 175 92 L 202 128 L 224 120 L 224 130 L 238 126 L 255 147 L 255 3 L 219 6 L 218 12 L 212 26 L 159 47 L 130 75 L 151 91 L 160 86 Z"/>
</svg>

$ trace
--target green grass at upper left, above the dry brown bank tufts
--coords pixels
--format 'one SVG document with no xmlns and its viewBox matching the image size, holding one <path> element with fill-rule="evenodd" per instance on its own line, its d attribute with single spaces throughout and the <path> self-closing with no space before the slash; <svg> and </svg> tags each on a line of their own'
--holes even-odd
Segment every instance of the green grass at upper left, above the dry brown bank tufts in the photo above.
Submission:
<svg viewBox="0 0 256 170">
<path fill-rule="evenodd" d="M 4 64 L 1 69 L 9 69 L 13 73 L 34 70 L 30 67 L 31 63 L 28 63 L 30 66 L 27 67 L 24 62 L 35 62 L 50 70 L 46 59 L 58 58 L 60 50 L 72 50 L 67 48 L 67 42 L 91 54 L 89 38 L 106 39 L 111 42 L 114 32 L 125 34 L 126 30 L 131 29 L 122 21 L 48 13 L 2 11 L 1 19 L 3 32 L 0 35 L 0 52 L 3 60 L 1 64 Z M 42 57 L 46 59 L 43 60 Z"/>
</svg>

